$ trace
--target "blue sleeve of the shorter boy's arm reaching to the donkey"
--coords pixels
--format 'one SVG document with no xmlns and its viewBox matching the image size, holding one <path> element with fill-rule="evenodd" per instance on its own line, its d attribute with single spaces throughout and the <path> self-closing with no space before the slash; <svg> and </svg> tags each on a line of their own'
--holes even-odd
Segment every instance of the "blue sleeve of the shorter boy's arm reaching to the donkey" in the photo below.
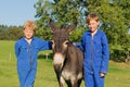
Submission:
<svg viewBox="0 0 130 87">
<path fill-rule="evenodd" d="M 39 46 L 40 46 L 40 50 L 51 50 L 52 49 L 51 41 L 40 40 Z"/>
</svg>

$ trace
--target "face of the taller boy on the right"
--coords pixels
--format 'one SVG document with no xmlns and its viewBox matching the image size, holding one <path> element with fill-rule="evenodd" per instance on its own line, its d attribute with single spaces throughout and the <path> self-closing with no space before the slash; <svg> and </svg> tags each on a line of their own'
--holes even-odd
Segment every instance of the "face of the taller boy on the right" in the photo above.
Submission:
<svg viewBox="0 0 130 87">
<path fill-rule="evenodd" d="M 89 22 L 89 29 L 94 33 L 96 29 L 98 29 L 98 26 L 99 26 L 100 22 L 96 22 L 95 20 L 91 20 Z"/>
</svg>

